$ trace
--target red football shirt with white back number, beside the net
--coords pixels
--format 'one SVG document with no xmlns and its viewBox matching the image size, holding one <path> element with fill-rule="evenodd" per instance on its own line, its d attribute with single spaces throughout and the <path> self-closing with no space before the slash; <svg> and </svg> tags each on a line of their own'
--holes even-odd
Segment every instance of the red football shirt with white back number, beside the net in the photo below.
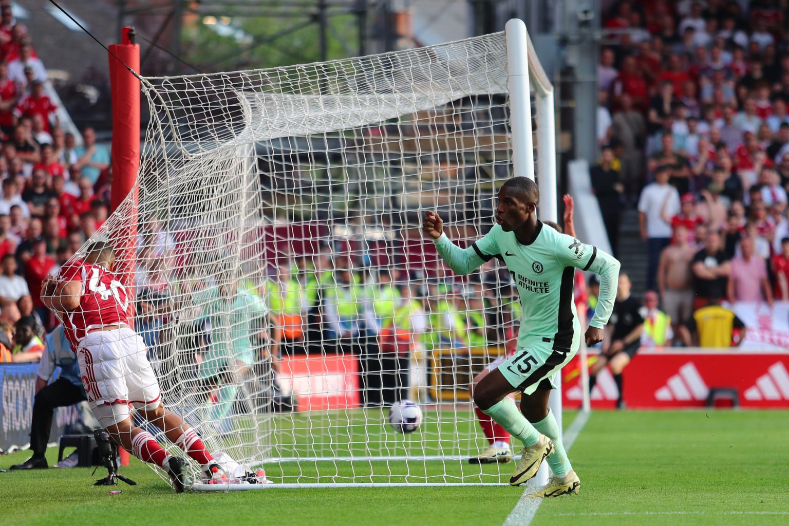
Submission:
<svg viewBox="0 0 789 526">
<path fill-rule="evenodd" d="M 61 282 L 81 282 L 80 305 L 62 319 L 66 338 L 77 347 L 88 331 L 108 325 L 129 323 L 129 297 L 110 270 L 100 265 L 72 261 L 58 274 Z"/>
</svg>

